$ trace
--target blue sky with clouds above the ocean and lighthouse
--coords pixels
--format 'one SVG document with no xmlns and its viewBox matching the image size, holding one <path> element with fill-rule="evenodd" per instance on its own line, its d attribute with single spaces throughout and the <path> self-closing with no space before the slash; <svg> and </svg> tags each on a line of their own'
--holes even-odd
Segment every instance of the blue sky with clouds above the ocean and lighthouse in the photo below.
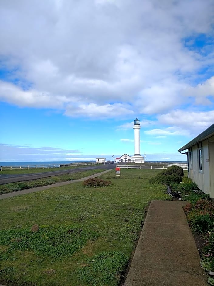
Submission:
<svg viewBox="0 0 214 286">
<path fill-rule="evenodd" d="M 148 161 L 214 123 L 213 0 L 0 1 L 0 161 Z"/>
</svg>

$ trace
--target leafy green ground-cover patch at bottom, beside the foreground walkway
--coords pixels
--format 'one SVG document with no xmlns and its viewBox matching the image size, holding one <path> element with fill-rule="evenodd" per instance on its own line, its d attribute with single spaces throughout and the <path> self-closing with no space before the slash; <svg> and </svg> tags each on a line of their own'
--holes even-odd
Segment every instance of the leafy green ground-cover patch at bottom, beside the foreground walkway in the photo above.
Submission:
<svg viewBox="0 0 214 286">
<path fill-rule="evenodd" d="M 78 279 L 94 286 L 107 284 L 116 280 L 128 260 L 129 257 L 120 251 L 102 252 L 85 261 L 77 272 Z"/>
</svg>

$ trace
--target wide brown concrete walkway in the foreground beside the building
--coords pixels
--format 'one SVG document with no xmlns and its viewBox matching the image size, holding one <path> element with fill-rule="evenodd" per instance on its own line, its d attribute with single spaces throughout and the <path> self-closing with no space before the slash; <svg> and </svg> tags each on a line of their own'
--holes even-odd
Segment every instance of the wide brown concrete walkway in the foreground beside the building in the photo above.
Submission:
<svg viewBox="0 0 214 286">
<path fill-rule="evenodd" d="M 207 286 L 182 206 L 152 201 L 124 286 Z"/>
</svg>

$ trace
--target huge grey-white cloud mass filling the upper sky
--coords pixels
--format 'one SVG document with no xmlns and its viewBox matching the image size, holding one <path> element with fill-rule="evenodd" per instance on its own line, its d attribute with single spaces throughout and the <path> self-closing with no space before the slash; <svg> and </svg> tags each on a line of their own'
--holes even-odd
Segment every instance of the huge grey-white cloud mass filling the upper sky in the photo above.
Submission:
<svg viewBox="0 0 214 286">
<path fill-rule="evenodd" d="M 212 60 L 183 41 L 212 31 L 213 10 L 212 0 L 1 1 L 0 60 L 12 71 L 1 99 L 90 118 L 169 112 Z M 212 82 L 194 89 L 196 104 Z"/>
</svg>

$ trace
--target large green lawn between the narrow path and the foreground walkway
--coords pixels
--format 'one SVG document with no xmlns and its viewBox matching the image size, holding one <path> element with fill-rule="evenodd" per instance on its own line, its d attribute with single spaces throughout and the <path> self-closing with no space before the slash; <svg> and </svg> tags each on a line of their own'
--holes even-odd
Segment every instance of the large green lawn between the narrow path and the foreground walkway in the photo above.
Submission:
<svg viewBox="0 0 214 286">
<path fill-rule="evenodd" d="M 116 286 L 154 199 L 160 170 L 122 169 L 100 176 L 108 187 L 82 183 L 0 200 L 0 284 Z M 32 225 L 38 232 L 30 232 Z"/>
</svg>

